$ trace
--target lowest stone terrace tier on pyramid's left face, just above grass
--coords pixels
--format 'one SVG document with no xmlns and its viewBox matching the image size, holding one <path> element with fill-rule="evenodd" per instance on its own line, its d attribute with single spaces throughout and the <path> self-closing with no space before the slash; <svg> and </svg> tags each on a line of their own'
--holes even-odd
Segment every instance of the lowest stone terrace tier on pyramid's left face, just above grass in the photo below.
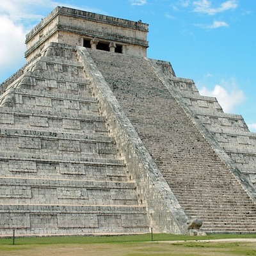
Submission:
<svg viewBox="0 0 256 256">
<path fill-rule="evenodd" d="M 147 212 L 138 205 L 0 205 L 0 235 L 148 232 Z M 12 216 L 12 218 L 10 218 Z"/>
</svg>

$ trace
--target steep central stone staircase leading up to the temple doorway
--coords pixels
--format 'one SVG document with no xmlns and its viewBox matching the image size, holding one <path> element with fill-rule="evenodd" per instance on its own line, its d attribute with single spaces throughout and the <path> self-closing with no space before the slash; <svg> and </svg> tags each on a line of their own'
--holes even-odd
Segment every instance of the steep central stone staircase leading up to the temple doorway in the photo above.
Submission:
<svg viewBox="0 0 256 256">
<path fill-rule="evenodd" d="M 189 218 L 207 233 L 255 233 L 252 198 L 150 61 L 88 51 Z"/>
</svg>

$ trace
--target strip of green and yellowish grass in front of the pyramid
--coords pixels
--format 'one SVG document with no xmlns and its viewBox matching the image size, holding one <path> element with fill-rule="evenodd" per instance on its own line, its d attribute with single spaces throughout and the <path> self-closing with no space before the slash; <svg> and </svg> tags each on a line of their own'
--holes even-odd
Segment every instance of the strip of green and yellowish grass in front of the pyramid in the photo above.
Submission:
<svg viewBox="0 0 256 256">
<path fill-rule="evenodd" d="M 0 239 L 1 256 L 256 255 L 256 235 L 193 237 L 154 234 L 154 241 L 151 241 L 150 234 L 99 237 L 27 237 L 16 238 L 15 244 L 12 243 L 12 239 Z"/>
</svg>

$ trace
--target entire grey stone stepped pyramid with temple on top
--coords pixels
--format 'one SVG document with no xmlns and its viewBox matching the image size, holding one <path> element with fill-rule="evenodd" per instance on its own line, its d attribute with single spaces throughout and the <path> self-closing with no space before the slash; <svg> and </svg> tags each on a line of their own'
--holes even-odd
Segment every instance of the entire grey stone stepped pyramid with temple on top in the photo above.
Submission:
<svg viewBox="0 0 256 256">
<path fill-rule="evenodd" d="M 147 58 L 148 24 L 58 6 L 0 85 L 0 236 L 256 233 L 256 134 Z"/>
</svg>

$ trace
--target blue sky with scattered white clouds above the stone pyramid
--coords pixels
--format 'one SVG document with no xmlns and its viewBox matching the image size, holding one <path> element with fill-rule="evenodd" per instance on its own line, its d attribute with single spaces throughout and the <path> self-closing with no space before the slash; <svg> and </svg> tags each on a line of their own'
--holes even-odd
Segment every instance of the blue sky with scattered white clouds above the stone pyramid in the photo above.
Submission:
<svg viewBox="0 0 256 256">
<path fill-rule="evenodd" d="M 170 61 L 256 132 L 255 0 L 1 0 L 0 83 L 24 65 L 26 33 L 56 6 L 148 23 L 148 58 Z"/>
</svg>

